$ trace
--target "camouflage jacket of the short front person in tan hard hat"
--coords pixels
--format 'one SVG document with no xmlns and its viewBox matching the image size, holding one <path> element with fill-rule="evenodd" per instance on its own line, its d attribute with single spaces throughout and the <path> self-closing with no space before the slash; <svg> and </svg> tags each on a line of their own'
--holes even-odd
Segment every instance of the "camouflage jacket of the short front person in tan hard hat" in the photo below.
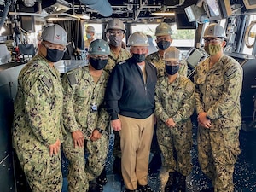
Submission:
<svg viewBox="0 0 256 192">
<path fill-rule="evenodd" d="M 163 122 L 169 118 L 177 125 L 186 121 L 195 109 L 194 93 L 194 84 L 182 75 L 172 83 L 167 77 L 160 78 L 155 88 L 154 114 Z"/>
</svg>

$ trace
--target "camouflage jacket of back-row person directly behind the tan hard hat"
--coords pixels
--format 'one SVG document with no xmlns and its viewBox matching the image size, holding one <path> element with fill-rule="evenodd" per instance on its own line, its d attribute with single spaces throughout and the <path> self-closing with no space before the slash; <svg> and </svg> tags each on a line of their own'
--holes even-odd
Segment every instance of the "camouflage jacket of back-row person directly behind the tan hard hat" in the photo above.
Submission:
<svg viewBox="0 0 256 192">
<path fill-rule="evenodd" d="M 156 67 L 158 79 L 165 76 L 165 74 L 166 74 L 165 61 L 163 61 L 163 59 L 160 57 L 158 51 L 154 52 L 153 54 L 148 55 L 146 57 L 146 60 L 152 62 L 154 64 L 154 66 Z M 178 73 L 180 75 L 187 77 L 188 65 L 187 65 L 186 61 L 181 62 Z"/>
</svg>

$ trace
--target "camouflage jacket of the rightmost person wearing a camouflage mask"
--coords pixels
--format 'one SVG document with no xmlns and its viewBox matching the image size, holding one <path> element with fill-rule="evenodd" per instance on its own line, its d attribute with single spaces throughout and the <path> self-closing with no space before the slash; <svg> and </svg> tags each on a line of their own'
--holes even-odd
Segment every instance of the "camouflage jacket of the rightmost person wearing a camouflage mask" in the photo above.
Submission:
<svg viewBox="0 0 256 192">
<path fill-rule="evenodd" d="M 228 55 L 223 55 L 209 68 L 209 58 L 195 71 L 195 106 L 197 113 L 206 112 L 224 127 L 241 125 L 240 94 L 242 68 Z"/>
</svg>

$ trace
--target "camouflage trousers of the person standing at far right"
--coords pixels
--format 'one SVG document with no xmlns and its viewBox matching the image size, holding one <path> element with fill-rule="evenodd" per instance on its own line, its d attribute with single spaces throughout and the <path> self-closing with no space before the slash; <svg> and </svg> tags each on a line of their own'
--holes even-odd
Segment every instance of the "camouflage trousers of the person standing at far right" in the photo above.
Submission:
<svg viewBox="0 0 256 192">
<path fill-rule="evenodd" d="M 234 191 L 234 166 L 241 153 L 239 130 L 214 124 L 210 130 L 198 127 L 198 160 L 202 172 L 212 180 L 214 191 Z"/>
</svg>

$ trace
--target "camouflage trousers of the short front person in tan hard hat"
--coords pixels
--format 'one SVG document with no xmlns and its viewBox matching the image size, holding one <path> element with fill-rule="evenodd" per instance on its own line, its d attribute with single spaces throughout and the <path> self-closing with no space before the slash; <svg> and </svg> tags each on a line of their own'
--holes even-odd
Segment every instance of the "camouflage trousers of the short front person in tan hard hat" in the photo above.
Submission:
<svg viewBox="0 0 256 192">
<path fill-rule="evenodd" d="M 163 154 L 166 172 L 179 172 L 188 176 L 192 172 L 192 124 L 188 120 L 173 128 L 157 121 L 157 139 Z"/>
</svg>

